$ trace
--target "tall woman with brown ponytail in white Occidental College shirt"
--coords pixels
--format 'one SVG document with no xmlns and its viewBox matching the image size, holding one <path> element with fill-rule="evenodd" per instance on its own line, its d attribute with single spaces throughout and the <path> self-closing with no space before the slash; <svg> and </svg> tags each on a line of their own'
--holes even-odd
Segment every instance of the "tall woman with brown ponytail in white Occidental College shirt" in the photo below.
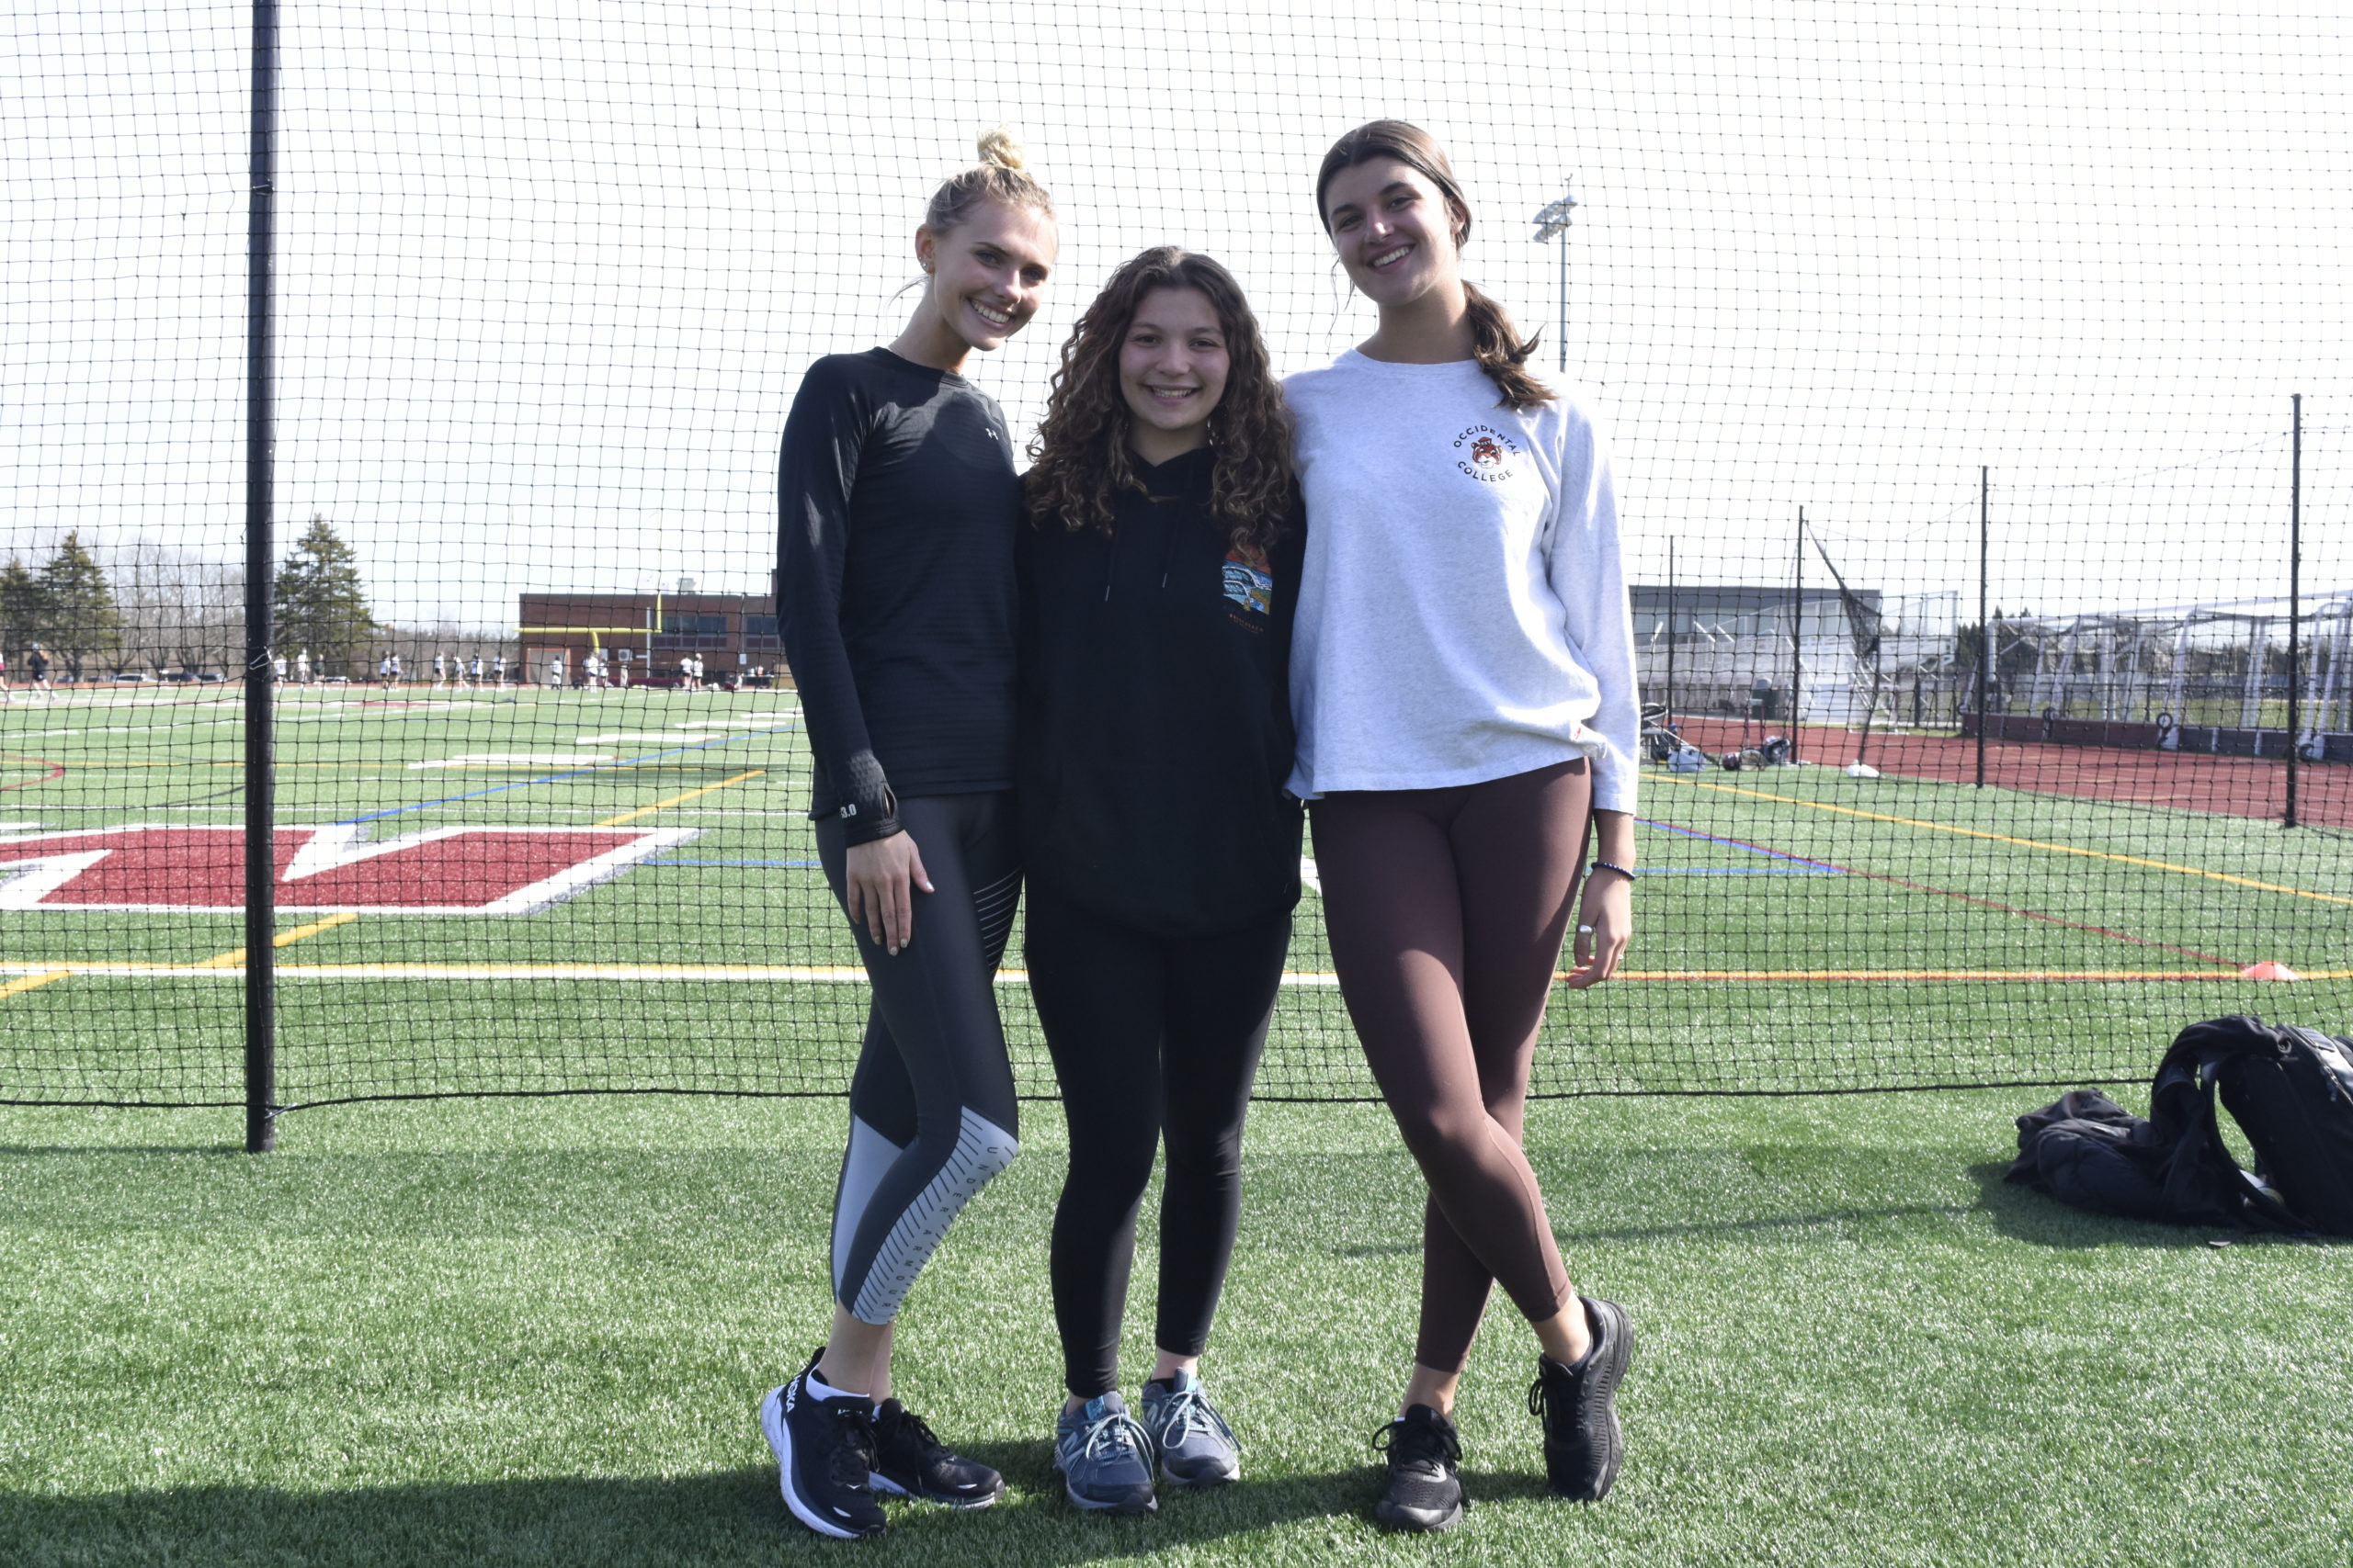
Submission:
<svg viewBox="0 0 2353 1568">
<path fill-rule="evenodd" d="M 1464 282 L 1471 205 L 1445 150 L 1362 125 L 1325 155 L 1315 214 L 1381 315 L 1285 383 L 1313 524 L 1289 788 L 1341 997 L 1428 1182 L 1377 1519 L 1442 1530 L 1461 1519 L 1454 1389 L 1494 1284 L 1534 1328 L 1553 1490 L 1598 1500 L 1619 1469 L 1633 1328 L 1569 1286 L 1520 1126 L 1572 910 L 1569 987 L 1607 980 L 1633 924 L 1633 632 L 1600 430 Z"/>
</svg>

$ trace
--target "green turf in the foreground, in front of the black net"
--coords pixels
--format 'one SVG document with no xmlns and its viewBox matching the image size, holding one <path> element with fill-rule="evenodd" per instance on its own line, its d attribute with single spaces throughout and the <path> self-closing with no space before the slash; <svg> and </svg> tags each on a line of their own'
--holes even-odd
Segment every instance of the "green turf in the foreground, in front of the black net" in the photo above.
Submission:
<svg viewBox="0 0 2353 1568">
<path fill-rule="evenodd" d="M 894 1507 L 856 1559 L 2346 1563 L 2346 1251 L 2005 1185 L 2031 1103 L 1537 1107 L 1569 1267 L 1640 1326 L 1631 1458 L 1602 1507 L 1541 1495 L 1499 1312 L 1461 1410 L 1475 1507 L 1442 1540 L 1365 1521 L 1417 1272 L 1386 1112 L 1257 1112 L 1209 1359 L 1247 1479 L 1106 1521 L 1049 1472 L 1061 1126 L 1031 1107 L 901 1328 L 908 1399 L 1014 1495 Z M 821 1333 L 840 1117 L 341 1107 L 256 1159 L 221 1112 L 0 1112 L 0 1561 L 842 1561 L 786 1519 L 751 1420 Z"/>
</svg>

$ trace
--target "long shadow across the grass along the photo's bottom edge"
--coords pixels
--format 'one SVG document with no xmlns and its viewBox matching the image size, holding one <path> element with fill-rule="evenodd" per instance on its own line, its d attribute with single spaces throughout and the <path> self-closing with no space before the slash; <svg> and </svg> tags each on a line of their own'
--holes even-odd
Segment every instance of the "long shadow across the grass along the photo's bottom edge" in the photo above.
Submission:
<svg viewBox="0 0 2353 1568">
<path fill-rule="evenodd" d="M 1329 1519 L 1334 1535 L 1374 1533 L 1374 1472 L 1254 1479 L 1162 1495 L 1141 1519 L 1080 1516 L 1061 1495 L 1045 1443 L 969 1450 L 1005 1472 L 1012 1497 L 984 1514 L 889 1505 L 892 1526 L 861 1542 L 861 1563 L 991 1563 L 1047 1568 L 1146 1556 L 1184 1544 Z M 1541 1495 L 1539 1476 L 1466 1476 L 1473 1495 Z M 0 1493 L 12 1563 L 339 1566 L 379 1563 L 840 1563 L 776 1497 L 772 1467 L 696 1476 L 560 1476 L 351 1490 L 188 1486 L 33 1497 Z"/>
</svg>

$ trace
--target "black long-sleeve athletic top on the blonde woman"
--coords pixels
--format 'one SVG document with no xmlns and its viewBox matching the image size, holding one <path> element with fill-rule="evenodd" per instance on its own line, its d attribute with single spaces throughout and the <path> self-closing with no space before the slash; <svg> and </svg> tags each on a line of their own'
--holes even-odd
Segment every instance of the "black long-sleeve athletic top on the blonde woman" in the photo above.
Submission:
<svg viewBox="0 0 2353 1568">
<path fill-rule="evenodd" d="M 896 795 L 1009 788 L 1021 480 L 1005 411 L 887 348 L 826 355 L 784 423 L 776 496 L 809 816 L 866 844 L 899 832 Z"/>
</svg>

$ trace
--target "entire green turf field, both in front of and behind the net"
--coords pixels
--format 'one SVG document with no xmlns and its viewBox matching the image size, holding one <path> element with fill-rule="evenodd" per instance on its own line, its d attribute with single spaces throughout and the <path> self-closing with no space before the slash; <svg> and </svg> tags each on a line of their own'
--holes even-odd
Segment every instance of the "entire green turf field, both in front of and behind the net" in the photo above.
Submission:
<svg viewBox="0 0 2353 1568">
<path fill-rule="evenodd" d="M 238 724 L 191 693 L 0 710 L 0 1098 L 240 1100 L 235 856 L 151 835 L 146 860 L 52 856 L 26 893 L 52 835 L 233 825 Z M 311 1110 L 278 1154 L 228 1152 L 224 1110 L 0 1110 L 0 1561 L 828 1552 L 784 1516 L 751 1408 L 821 1331 L 842 1110 L 725 1098 L 847 1077 L 864 994 L 805 771 L 788 693 L 287 693 L 282 853 L 339 832 L 322 875 L 445 827 L 671 837 L 511 914 L 400 900 L 496 893 L 513 844 L 346 877 L 341 905 L 282 872 L 278 1098 Z M 1633 971 L 1555 1001 L 1537 1074 L 1600 1098 L 1529 1121 L 1574 1276 L 1640 1331 L 1607 1505 L 1541 1497 L 1499 1319 L 1464 1406 L 1471 1521 L 1372 1533 L 1419 1187 L 1379 1107 L 1264 1105 L 1212 1361 L 1249 1481 L 1073 1519 L 1045 1441 L 1061 1128 L 1033 1103 L 911 1302 L 904 1371 L 1016 1497 L 901 1514 L 861 1556 L 2348 1561 L 2341 1248 L 2209 1248 L 2002 1185 L 2009 1119 L 2054 1088 L 1607 1098 L 2129 1081 L 2224 1011 L 2344 1030 L 2346 837 L 1835 769 L 1645 788 Z M 1268 1095 L 1369 1088 L 1313 912 Z M 2313 978 L 2242 980 L 2259 959 Z M 332 1105 L 581 1088 L 696 1093 Z"/>
</svg>

